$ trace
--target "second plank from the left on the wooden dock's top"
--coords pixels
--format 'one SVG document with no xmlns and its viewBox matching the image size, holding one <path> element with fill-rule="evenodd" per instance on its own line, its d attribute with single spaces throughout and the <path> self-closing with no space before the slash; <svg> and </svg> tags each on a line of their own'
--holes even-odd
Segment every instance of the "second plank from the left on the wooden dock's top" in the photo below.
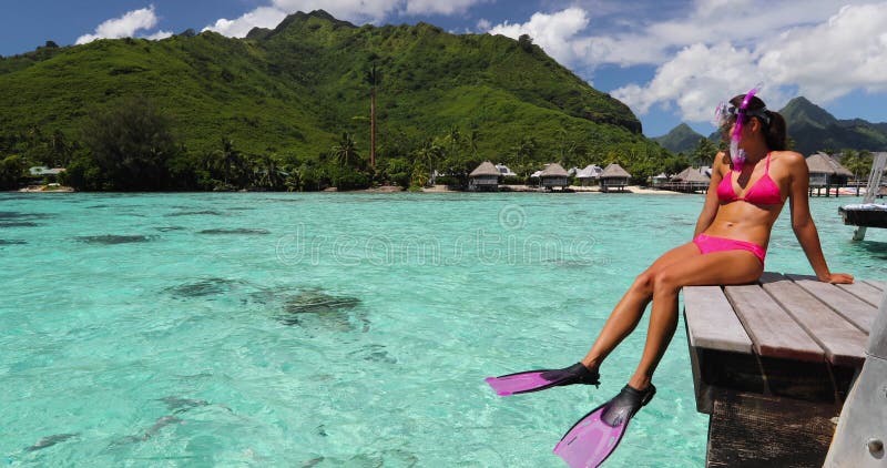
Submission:
<svg viewBox="0 0 887 468">
<path fill-rule="evenodd" d="M 758 355 L 825 360 L 823 348 L 761 286 L 726 286 L 724 292 Z"/>
</svg>

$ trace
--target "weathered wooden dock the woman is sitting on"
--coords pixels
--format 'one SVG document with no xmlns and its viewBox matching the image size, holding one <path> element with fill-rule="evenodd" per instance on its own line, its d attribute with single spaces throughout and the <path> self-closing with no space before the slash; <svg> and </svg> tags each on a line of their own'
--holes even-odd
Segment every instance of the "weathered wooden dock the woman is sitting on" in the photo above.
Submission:
<svg viewBox="0 0 887 468">
<path fill-rule="evenodd" d="M 685 287 L 696 409 L 711 415 L 706 467 L 822 466 L 885 289 L 771 272 Z"/>
</svg>

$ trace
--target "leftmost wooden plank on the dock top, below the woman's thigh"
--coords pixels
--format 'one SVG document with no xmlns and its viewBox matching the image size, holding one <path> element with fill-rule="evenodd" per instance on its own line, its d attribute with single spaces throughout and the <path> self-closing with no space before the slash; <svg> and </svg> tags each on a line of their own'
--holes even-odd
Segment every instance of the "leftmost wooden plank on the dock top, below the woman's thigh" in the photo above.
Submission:
<svg viewBox="0 0 887 468">
<path fill-rule="evenodd" d="M 690 346 L 752 354 L 752 338 L 718 286 L 684 287 Z"/>
</svg>

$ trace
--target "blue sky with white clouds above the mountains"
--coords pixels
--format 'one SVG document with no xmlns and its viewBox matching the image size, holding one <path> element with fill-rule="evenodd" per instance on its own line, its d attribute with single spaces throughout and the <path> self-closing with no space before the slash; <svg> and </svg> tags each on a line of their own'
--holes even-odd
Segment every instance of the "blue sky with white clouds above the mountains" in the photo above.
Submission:
<svg viewBox="0 0 887 468">
<path fill-rule="evenodd" d="M 2 0 L 0 54 L 185 29 L 242 37 L 323 8 L 357 24 L 426 21 L 455 33 L 528 33 L 657 136 L 702 133 L 722 100 L 763 84 L 779 109 L 804 95 L 839 119 L 887 122 L 887 2 L 833 0 Z M 791 122 L 789 122 L 791 124 Z"/>
</svg>

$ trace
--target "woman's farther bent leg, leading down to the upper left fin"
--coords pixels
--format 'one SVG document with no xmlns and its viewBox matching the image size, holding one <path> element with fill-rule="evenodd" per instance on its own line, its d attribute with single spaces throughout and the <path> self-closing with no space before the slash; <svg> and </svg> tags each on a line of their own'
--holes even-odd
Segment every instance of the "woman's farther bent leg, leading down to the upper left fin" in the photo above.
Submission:
<svg viewBox="0 0 887 468">
<path fill-rule="evenodd" d="M 582 359 L 588 368 L 597 368 L 626 336 L 638 326 L 641 316 L 653 298 L 653 281 L 667 265 L 683 262 L 702 255 L 692 242 L 672 248 L 660 256 L 649 268 L 641 273 L 622 299 L 610 313 L 601 333 L 589 353 Z"/>
</svg>

